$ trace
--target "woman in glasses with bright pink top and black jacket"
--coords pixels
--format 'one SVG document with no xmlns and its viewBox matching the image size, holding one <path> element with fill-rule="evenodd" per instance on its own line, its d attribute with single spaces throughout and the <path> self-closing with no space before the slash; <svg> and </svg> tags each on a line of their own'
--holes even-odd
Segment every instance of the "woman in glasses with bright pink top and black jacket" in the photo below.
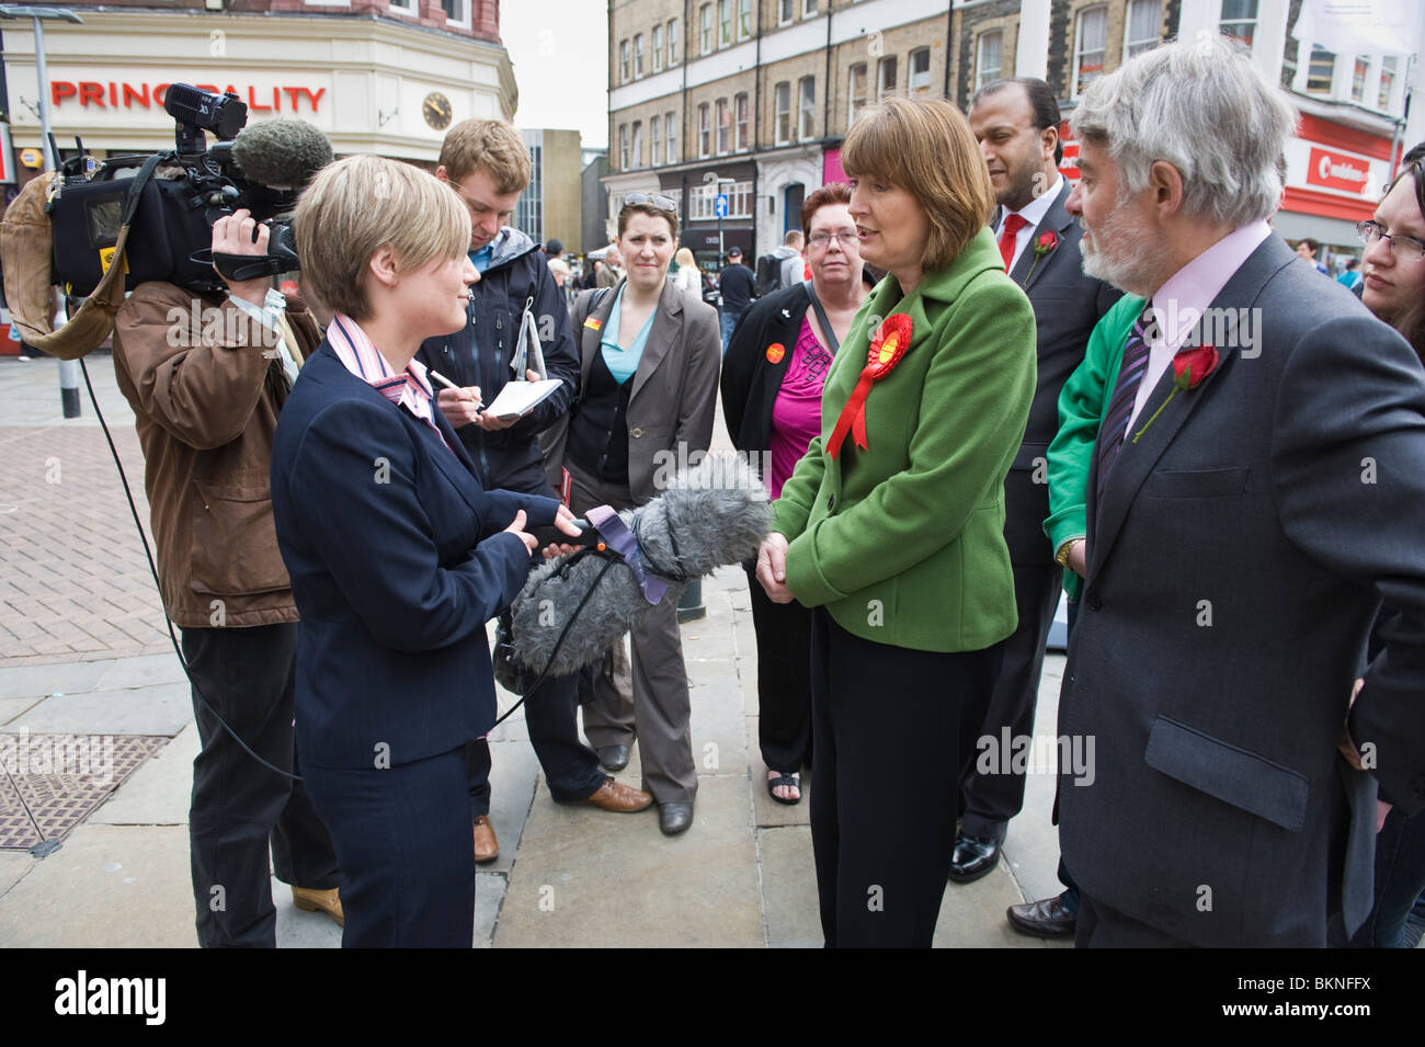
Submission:
<svg viewBox="0 0 1425 1047">
<path fill-rule="evenodd" d="M 811 282 L 752 303 L 722 359 L 722 417 L 732 446 L 782 493 L 807 446 L 821 433 L 821 389 L 851 321 L 866 301 L 851 185 L 832 182 L 802 204 Z M 801 769 L 811 758 L 811 611 L 774 604 L 745 564 L 757 630 L 757 734 L 767 791 L 801 802 Z"/>
</svg>

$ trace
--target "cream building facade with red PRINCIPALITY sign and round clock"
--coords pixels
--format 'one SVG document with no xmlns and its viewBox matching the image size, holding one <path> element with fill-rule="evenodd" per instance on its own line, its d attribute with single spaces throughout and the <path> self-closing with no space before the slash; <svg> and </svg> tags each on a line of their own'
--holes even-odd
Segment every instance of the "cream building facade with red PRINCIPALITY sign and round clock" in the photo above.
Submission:
<svg viewBox="0 0 1425 1047">
<path fill-rule="evenodd" d="M 170 84 L 232 91 L 248 121 L 301 117 L 338 154 L 433 164 L 446 128 L 510 120 L 519 98 L 499 0 L 174 0 L 161 10 L 68 4 L 84 24 L 46 23 L 50 120 L 103 158 L 174 147 Z M 40 145 L 34 38 L 4 24 L 17 151 Z M 28 154 L 26 158 L 31 158 Z M 37 167 L 37 165 L 36 165 Z"/>
</svg>

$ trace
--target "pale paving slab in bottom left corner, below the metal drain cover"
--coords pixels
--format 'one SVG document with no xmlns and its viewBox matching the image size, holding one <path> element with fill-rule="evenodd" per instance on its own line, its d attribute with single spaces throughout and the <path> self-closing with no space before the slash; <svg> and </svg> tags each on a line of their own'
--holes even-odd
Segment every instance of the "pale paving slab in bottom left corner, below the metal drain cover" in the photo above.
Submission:
<svg viewBox="0 0 1425 1047">
<path fill-rule="evenodd" d="M 81 825 L 0 896 L 0 943 L 33 949 L 187 949 L 188 829 Z"/>
</svg>

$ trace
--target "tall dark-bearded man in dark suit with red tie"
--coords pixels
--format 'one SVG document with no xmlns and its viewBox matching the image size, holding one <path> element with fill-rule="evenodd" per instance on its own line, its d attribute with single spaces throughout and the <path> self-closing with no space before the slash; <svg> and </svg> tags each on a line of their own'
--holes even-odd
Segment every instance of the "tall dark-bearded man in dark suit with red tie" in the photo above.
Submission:
<svg viewBox="0 0 1425 1047">
<path fill-rule="evenodd" d="M 1121 292 L 1080 268 L 1083 229 L 1064 211 L 1069 179 L 1059 175 L 1059 103 L 1043 80 L 996 80 L 970 101 L 970 130 L 989 165 L 999 209 L 995 234 L 1010 278 L 1035 306 L 1039 379 L 1029 427 L 1005 480 L 1005 541 L 1015 564 L 1019 628 L 1005 642 L 1005 661 L 982 722 L 969 724 L 980 759 L 960 783 L 962 822 L 950 879 L 978 880 L 999 862 L 1009 819 L 1025 805 L 1025 773 L 992 759 L 1005 739 L 1035 729 L 1045 641 L 1063 581 L 1043 521 L 1049 516 L 1045 453 L 1059 426 L 1059 392 L 1083 359 L 1089 332 Z M 1009 754 L 1002 754 L 1007 756 Z"/>
</svg>

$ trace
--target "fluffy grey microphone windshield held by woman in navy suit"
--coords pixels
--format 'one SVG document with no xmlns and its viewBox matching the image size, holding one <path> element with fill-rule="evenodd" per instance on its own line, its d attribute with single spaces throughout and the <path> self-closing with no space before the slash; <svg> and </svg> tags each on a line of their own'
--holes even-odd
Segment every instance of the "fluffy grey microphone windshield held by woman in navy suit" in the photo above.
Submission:
<svg viewBox="0 0 1425 1047">
<path fill-rule="evenodd" d="M 755 557 L 772 511 L 767 487 L 747 462 L 708 456 L 678 473 L 648 504 L 618 516 L 638 536 L 646 566 L 693 578 Z M 512 608 L 514 661 L 534 672 L 543 671 L 559 634 L 607 564 L 600 556 L 574 564 L 566 560 L 534 568 Z M 684 584 L 671 584 L 663 598 L 677 601 Z M 549 675 L 569 675 L 597 662 L 650 607 L 633 570 L 616 563 L 579 611 Z"/>
</svg>

